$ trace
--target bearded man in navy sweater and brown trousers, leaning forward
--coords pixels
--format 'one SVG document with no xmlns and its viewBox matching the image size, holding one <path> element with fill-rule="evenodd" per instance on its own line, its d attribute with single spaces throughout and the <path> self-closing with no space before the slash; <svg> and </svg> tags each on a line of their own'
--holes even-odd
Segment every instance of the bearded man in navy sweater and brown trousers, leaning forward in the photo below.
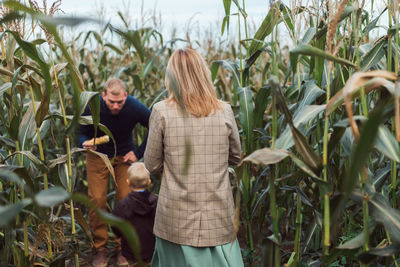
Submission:
<svg viewBox="0 0 400 267">
<path fill-rule="evenodd" d="M 89 115 L 86 108 L 83 115 Z M 137 123 L 148 128 L 150 110 L 138 100 L 129 96 L 124 82 L 111 78 L 104 85 L 104 91 L 100 97 L 100 123 L 104 124 L 112 133 L 116 142 L 116 157 L 113 160 L 115 173 L 115 190 L 117 201 L 125 198 L 130 192 L 126 182 L 127 170 L 131 163 L 138 161 L 143 156 L 147 138 L 135 148 L 133 144 L 132 130 Z M 97 137 L 105 135 L 98 129 Z M 102 145 L 92 145 L 88 142 L 94 137 L 93 125 L 81 125 L 79 145 L 86 149 L 96 150 L 107 154 L 111 159 L 114 156 L 114 144 L 112 141 Z M 105 210 L 107 201 L 107 185 L 109 171 L 104 161 L 94 153 L 86 153 L 86 171 L 88 177 L 88 195 L 98 208 Z M 94 233 L 94 243 L 97 253 L 93 258 L 93 266 L 107 266 L 106 244 L 108 241 L 107 225 L 101 221 L 93 210 L 89 211 L 90 227 Z M 121 254 L 120 239 L 117 240 L 117 264 L 127 266 L 128 262 Z"/>
</svg>

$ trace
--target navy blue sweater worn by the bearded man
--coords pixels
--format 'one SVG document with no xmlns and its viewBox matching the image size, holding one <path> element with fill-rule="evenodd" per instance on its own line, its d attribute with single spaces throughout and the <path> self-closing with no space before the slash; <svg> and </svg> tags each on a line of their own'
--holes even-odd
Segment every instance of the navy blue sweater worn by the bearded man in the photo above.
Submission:
<svg viewBox="0 0 400 267">
<path fill-rule="evenodd" d="M 90 115 L 89 107 L 86 107 L 82 115 Z M 147 137 L 143 140 L 142 144 L 136 148 L 133 144 L 132 130 L 137 123 L 149 128 L 149 118 L 150 110 L 130 95 L 128 95 L 123 108 L 117 115 L 111 113 L 104 103 L 103 97 L 100 95 L 100 123 L 104 124 L 111 131 L 117 146 L 117 156 L 124 156 L 129 151 L 133 151 L 138 159 L 143 157 L 144 150 L 146 149 Z M 98 128 L 97 137 L 103 135 L 105 135 L 105 133 Z M 80 125 L 79 147 L 82 147 L 83 142 L 93 137 L 93 125 Z M 113 157 L 113 141 L 110 139 L 110 142 L 107 144 L 98 145 L 96 151 Z"/>
</svg>

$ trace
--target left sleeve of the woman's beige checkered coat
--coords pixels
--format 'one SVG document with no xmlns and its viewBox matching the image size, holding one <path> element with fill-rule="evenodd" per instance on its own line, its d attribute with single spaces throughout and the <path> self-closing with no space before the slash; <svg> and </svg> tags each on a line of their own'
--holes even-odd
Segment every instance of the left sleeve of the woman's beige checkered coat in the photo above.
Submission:
<svg viewBox="0 0 400 267">
<path fill-rule="evenodd" d="M 164 163 L 164 118 L 154 105 L 149 121 L 149 135 L 144 152 L 144 164 L 150 173 L 158 173 L 163 169 Z"/>
</svg>

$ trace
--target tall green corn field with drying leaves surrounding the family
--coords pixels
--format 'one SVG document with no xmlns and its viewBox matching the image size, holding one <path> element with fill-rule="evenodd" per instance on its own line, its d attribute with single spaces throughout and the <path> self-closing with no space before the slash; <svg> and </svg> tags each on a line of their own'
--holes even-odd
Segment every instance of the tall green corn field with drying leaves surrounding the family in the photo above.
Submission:
<svg viewBox="0 0 400 267">
<path fill-rule="evenodd" d="M 379 14 L 380 1 L 271 1 L 255 29 L 245 0 L 218 1 L 225 17 L 215 34 L 238 22 L 229 45 L 206 35 L 165 40 L 122 13 L 122 27 L 66 38 L 61 29 L 89 19 L 60 16 L 61 0 L 3 1 L 1 265 L 87 266 L 93 205 L 78 126 L 113 139 L 99 123 L 106 80 L 122 79 L 151 108 L 167 95 L 169 56 L 184 45 L 206 58 L 239 126 L 242 162 L 230 173 L 245 265 L 399 266 L 400 3 L 381 1 Z M 92 116 L 81 116 L 88 105 Z M 146 133 L 134 130 L 138 143 Z M 110 214 L 114 191 L 108 200 L 98 215 L 138 250 L 131 225 Z"/>
</svg>

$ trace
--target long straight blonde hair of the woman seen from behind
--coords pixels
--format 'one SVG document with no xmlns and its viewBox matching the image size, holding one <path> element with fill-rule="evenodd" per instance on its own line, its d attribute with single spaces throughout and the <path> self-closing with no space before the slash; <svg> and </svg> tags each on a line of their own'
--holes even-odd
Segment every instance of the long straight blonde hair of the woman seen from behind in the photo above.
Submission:
<svg viewBox="0 0 400 267">
<path fill-rule="evenodd" d="M 168 61 L 166 72 L 169 102 L 177 103 L 196 117 L 206 117 L 222 108 L 207 63 L 196 50 L 176 50 Z"/>
</svg>

